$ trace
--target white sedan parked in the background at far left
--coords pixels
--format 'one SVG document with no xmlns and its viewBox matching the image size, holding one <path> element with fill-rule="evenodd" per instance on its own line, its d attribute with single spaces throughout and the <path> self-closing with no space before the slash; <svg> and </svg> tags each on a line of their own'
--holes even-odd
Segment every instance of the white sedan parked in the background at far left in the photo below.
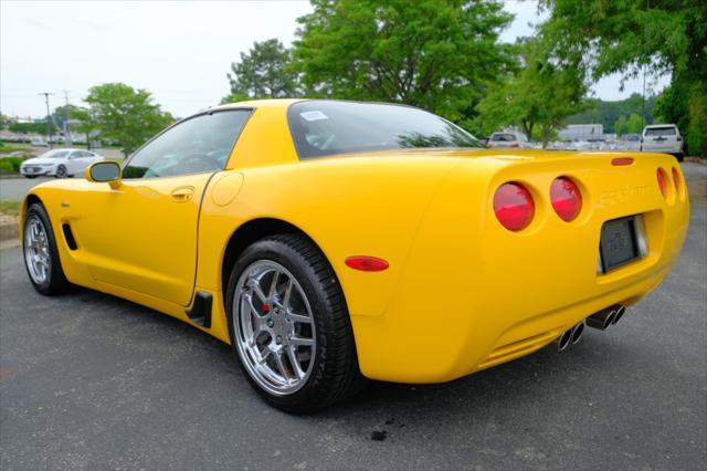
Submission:
<svg viewBox="0 0 707 471">
<path fill-rule="evenodd" d="M 98 160 L 105 159 L 89 150 L 54 149 L 24 160 L 20 166 L 20 174 L 27 178 L 39 176 L 73 177 L 82 175 L 86 167 Z"/>
</svg>

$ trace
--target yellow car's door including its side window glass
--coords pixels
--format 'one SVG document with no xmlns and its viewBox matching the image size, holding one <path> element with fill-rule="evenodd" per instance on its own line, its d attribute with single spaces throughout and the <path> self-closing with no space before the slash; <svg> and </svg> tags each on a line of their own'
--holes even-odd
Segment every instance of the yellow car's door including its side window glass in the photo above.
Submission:
<svg viewBox="0 0 707 471">
<path fill-rule="evenodd" d="M 124 165 L 120 186 L 92 184 L 72 227 L 95 280 L 190 303 L 201 199 L 250 113 L 230 109 L 180 122 Z"/>
</svg>

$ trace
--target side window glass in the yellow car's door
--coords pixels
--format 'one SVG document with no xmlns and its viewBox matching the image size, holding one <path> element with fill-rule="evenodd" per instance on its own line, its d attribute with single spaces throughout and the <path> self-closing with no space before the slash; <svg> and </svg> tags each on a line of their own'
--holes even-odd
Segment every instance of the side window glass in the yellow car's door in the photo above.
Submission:
<svg viewBox="0 0 707 471">
<path fill-rule="evenodd" d="M 123 178 L 159 178 L 223 170 L 250 109 L 226 109 L 178 123 L 127 161 Z"/>
</svg>

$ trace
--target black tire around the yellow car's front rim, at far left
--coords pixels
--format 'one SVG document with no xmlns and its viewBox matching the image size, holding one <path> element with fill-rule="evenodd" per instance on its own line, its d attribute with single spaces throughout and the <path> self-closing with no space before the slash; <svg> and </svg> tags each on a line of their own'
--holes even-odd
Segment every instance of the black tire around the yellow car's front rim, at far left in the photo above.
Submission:
<svg viewBox="0 0 707 471">
<path fill-rule="evenodd" d="M 27 260 L 27 230 L 30 221 L 34 218 L 39 219 L 42 223 L 44 231 L 46 233 L 46 240 L 49 245 L 49 276 L 41 283 L 38 283 L 30 272 L 30 266 L 28 265 Z M 46 209 L 41 202 L 34 202 L 30 205 L 27 212 L 24 213 L 24 228 L 23 228 L 23 237 L 22 237 L 22 259 L 24 260 L 24 268 L 27 270 L 27 274 L 32 283 L 32 286 L 40 293 L 46 296 L 52 296 L 56 294 L 63 294 L 71 290 L 72 284 L 66 280 L 64 275 L 64 270 L 62 269 L 61 260 L 59 258 L 59 250 L 56 249 L 56 238 L 54 237 L 54 231 L 52 230 L 52 224 L 50 223 L 49 214 L 46 213 Z"/>
</svg>

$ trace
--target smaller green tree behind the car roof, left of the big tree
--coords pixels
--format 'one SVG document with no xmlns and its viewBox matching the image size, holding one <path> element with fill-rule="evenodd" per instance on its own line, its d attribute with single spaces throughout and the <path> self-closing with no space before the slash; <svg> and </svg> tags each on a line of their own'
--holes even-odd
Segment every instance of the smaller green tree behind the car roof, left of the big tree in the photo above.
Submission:
<svg viewBox="0 0 707 471">
<path fill-rule="evenodd" d="M 231 93 L 221 103 L 299 96 L 299 74 L 291 60 L 292 52 L 278 40 L 255 42 L 240 62 L 231 63 Z"/>
</svg>

